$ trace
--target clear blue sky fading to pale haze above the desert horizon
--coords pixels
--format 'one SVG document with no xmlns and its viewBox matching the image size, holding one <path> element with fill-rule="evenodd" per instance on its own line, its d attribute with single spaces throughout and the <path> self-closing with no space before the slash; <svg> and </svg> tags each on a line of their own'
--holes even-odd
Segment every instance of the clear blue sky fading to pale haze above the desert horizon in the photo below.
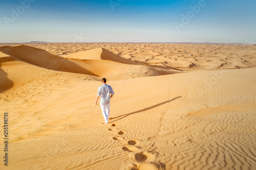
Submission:
<svg viewBox="0 0 256 170">
<path fill-rule="evenodd" d="M 256 43 L 255 7 L 254 0 L 8 0 L 0 42 Z"/>
</svg>

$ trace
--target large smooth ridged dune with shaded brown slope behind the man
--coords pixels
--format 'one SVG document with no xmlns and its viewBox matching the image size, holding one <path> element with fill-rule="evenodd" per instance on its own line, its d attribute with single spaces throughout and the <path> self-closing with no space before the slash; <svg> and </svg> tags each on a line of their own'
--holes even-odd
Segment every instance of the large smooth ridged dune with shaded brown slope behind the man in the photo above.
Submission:
<svg viewBox="0 0 256 170">
<path fill-rule="evenodd" d="M 96 49 L 97 50 L 97 49 Z M 96 60 L 99 59 L 100 56 L 104 56 L 103 59 L 112 59 L 114 60 L 115 56 L 112 57 L 111 52 L 104 51 L 104 54 L 95 54 L 92 57 L 94 60 L 88 59 L 79 59 L 77 58 L 63 58 L 59 56 L 55 56 L 50 54 L 44 50 L 39 48 L 27 46 L 27 45 L 19 45 L 19 46 L 2 46 L 0 47 L 0 51 L 8 54 L 14 58 L 25 61 L 27 63 L 57 70 L 57 71 L 65 71 L 65 72 L 74 72 L 78 74 L 85 74 L 90 76 L 105 76 L 111 79 L 115 79 L 115 76 L 125 78 L 135 78 L 135 77 L 145 77 L 145 76 L 159 76 L 172 74 L 174 71 L 169 70 L 156 70 L 155 68 L 142 66 L 142 65 L 131 65 L 130 60 L 123 59 L 118 56 L 117 61 L 109 61 L 109 60 Z M 77 56 L 84 56 L 84 58 L 89 58 L 92 55 L 90 53 L 86 53 L 87 55 L 78 54 Z M 110 55 L 108 55 L 110 54 Z M 97 58 L 98 57 L 98 58 Z M 121 62 L 121 63 L 120 63 Z M 134 74 L 131 74 L 130 70 L 134 70 Z"/>
</svg>

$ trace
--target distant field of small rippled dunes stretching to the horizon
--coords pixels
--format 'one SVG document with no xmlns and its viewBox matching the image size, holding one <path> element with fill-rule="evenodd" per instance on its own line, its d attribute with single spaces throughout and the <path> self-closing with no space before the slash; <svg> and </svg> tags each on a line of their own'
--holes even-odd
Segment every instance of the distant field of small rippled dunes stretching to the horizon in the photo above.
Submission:
<svg viewBox="0 0 256 170">
<path fill-rule="evenodd" d="M 92 50 L 92 54 L 93 51 L 101 53 L 100 49 L 105 48 L 125 59 L 184 71 L 237 69 L 256 66 L 256 48 L 253 45 L 164 43 L 48 43 L 29 45 L 62 57 L 77 52 L 87 53 L 86 50 Z M 234 61 L 238 62 L 234 63 Z"/>
</svg>

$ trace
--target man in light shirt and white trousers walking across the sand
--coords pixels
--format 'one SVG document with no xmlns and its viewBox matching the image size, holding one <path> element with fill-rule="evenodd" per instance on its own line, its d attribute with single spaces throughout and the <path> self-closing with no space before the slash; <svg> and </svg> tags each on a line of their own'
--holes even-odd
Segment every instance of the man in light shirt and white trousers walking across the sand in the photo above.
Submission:
<svg viewBox="0 0 256 170">
<path fill-rule="evenodd" d="M 109 118 L 110 118 L 110 99 L 113 97 L 114 92 L 112 87 L 106 84 L 105 78 L 101 80 L 101 83 L 102 83 L 102 86 L 99 86 L 98 88 L 98 94 L 97 94 L 95 104 L 96 105 L 98 104 L 98 99 L 101 94 L 100 107 L 101 107 L 103 117 L 105 119 L 104 124 L 108 124 Z"/>
</svg>

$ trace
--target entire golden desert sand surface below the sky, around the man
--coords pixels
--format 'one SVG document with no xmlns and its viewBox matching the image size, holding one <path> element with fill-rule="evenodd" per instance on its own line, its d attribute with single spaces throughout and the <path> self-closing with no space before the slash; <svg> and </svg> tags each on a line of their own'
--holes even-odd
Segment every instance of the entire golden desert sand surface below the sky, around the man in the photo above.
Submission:
<svg viewBox="0 0 256 170">
<path fill-rule="evenodd" d="M 256 169 L 255 54 L 228 44 L 0 44 L 10 138 L 0 169 Z M 103 77 L 115 92 L 107 125 L 95 105 Z"/>
</svg>

